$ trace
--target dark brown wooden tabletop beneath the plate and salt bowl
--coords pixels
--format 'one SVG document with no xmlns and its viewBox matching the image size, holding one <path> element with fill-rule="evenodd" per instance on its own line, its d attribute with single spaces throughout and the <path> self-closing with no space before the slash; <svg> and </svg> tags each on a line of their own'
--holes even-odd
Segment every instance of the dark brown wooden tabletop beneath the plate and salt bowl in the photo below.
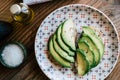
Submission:
<svg viewBox="0 0 120 80">
<path fill-rule="evenodd" d="M 105 0 L 104 0 L 105 1 Z M 111 3 L 112 0 L 106 0 Z M 8 20 L 10 16 L 9 7 L 14 3 L 19 3 L 19 0 L 0 0 L 0 20 Z M 68 4 L 83 3 L 94 6 L 98 9 L 103 9 L 106 3 L 102 0 L 55 0 L 52 2 L 36 4 L 30 6 L 35 12 L 34 20 L 26 26 L 14 26 L 13 33 L 3 41 L 0 41 L 0 46 L 8 41 L 20 41 L 26 47 L 28 51 L 27 60 L 16 69 L 7 69 L 0 64 L 0 80 L 49 80 L 47 76 L 39 68 L 35 53 L 34 53 L 34 40 L 36 31 L 43 19 L 51 13 L 53 10 Z M 108 4 L 108 3 L 107 3 Z M 109 7 L 108 7 L 109 8 Z M 120 10 L 120 6 L 116 6 L 116 11 Z M 103 10 L 104 11 L 104 10 Z M 115 14 L 111 14 L 109 11 L 106 14 L 111 18 L 115 24 L 118 32 L 120 30 L 120 14 L 119 11 Z M 113 12 L 113 13 L 114 13 Z M 120 34 L 120 33 L 119 33 Z M 106 80 L 119 80 L 120 78 L 120 58 L 117 62 L 112 73 Z"/>
</svg>

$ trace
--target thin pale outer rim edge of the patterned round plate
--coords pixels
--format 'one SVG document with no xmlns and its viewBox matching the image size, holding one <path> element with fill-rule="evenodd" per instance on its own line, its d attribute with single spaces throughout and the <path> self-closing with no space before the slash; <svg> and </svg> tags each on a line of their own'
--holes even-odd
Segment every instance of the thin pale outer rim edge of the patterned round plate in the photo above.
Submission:
<svg viewBox="0 0 120 80">
<path fill-rule="evenodd" d="M 114 65 L 113 65 L 113 68 L 112 68 L 111 71 L 110 71 L 109 73 L 107 73 L 107 75 L 105 76 L 105 78 L 107 78 L 107 77 L 112 73 L 113 69 L 115 68 L 115 66 L 116 66 L 116 64 L 117 64 L 117 62 L 118 62 L 118 58 L 119 58 L 119 56 L 120 56 L 120 54 L 119 54 L 119 49 L 120 49 L 120 45 L 119 45 L 119 44 L 120 44 L 120 43 L 119 43 L 119 35 L 118 35 L 118 31 L 117 31 L 115 25 L 113 24 L 112 20 L 111 20 L 104 12 L 100 11 L 99 9 L 97 9 L 97 8 L 95 8 L 95 7 L 93 7 L 93 6 L 86 5 L 86 4 L 68 4 L 68 5 L 59 7 L 59 8 L 57 8 L 57 9 L 51 11 L 51 12 L 43 19 L 43 21 L 46 20 L 47 17 L 48 17 L 49 15 L 53 14 L 56 10 L 60 10 L 60 9 L 63 9 L 64 7 L 69 7 L 69 6 L 85 6 L 85 7 L 89 7 L 89 8 L 91 8 L 91 9 L 96 10 L 96 11 L 98 11 L 99 13 L 101 13 L 101 14 L 111 23 L 111 25 L 112 25 L 112 27 L 113 27 L 113 29 L 114 29 L 114 31 L 115 31 L 115 34 L 117 35 L 117 39 L 118 39 L 118 40 L 117 40 L 117 41 L 118 41 L 118 44 L 117 44 L 117 45 L 118 45 L 118 50 L 117 50 L 117 51 L 118 51 L 118 55 L 117 55 L 117 59 L 116 59 Z M 41 24 L 43 24 L 43 21 L 42 21 Z M 40 24 L 40 26 L 41 26 L 41 24 Z M 36 40 L 36 38 L 37 38 L 37 33 L 38 33 L 38 31 L 40 30 L 40 26 L 39 26 L 39 28 L 38 28 L 38 30 L 37 30 L 37 32 L 36 32 L 35 40 Z M 34 50 L 35 50 L 35 49 L 36 49 L 36 42 L 34 43 Z M 37 60 L 36 52 L 35 52 L 35 57 L 36 57 L 36 60 Z M 39 65 L 39 67 L 40 67 L 40 64 L 39 64 L 39 61 L 38 61 L 38 60 L 37 60 L 37 63 L 38 63 L 38 65 Z M 41 67 L 40 67 L 40 69 L 41 69 Z M 43 70 L 42 70 L 42 72 L 47 76 L 47 74 L 46 74 Z M 50 79 L 49 76 L 47 76 L 47 77 Z M 105 78 L 104 78 L 104 79 L 105 79 Z"/>
</svg>

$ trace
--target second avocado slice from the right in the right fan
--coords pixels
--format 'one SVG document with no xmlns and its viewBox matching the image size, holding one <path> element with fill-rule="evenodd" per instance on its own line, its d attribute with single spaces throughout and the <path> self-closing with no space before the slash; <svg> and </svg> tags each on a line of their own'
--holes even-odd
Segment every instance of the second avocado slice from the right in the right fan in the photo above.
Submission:
<svg viewBox="0 0 120 80">
<path fill-rule="evenodd" d="M 91 47 L 93 53 L 94 53 L 94 59 L 95 59 L 95 65 L 97 66 L 100 62 L 100 52 L 99 49 L 95 46 L 95 43 L 89 38 L 89 37 L 82 37 L 83 40 L 86 40 L 88 45 Z"/>
</svg>

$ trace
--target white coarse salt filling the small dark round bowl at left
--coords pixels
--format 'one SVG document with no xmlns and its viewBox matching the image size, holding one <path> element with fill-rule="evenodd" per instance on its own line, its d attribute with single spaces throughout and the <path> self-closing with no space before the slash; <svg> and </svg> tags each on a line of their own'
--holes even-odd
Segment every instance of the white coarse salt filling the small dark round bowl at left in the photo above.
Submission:
<svg viewBox="0 0 120 80">
<path fill-rule="evenodd" d="M 16 67 L 23 62 L 23 50 L 16 44 L 9 44 L 2 51 L 4 63 L 11 67 Z"/>
</svg>

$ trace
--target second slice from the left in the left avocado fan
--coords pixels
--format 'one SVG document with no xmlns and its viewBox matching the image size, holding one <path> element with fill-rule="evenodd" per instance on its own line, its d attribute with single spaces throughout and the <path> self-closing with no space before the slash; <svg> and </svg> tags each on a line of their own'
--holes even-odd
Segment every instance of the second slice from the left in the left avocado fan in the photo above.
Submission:
<svg viewBox="0 0 120 80">
<path fill-rule="evenodd" d="M 53 47 L 55 51 L 64 59 L 66 59 L 69 62 L 74 62 L 74 57 L 69 56 L 67 52 L 62 50 L 58 43 L 56 42 L 56 34 L 53 35 Z"/>
</svg>

